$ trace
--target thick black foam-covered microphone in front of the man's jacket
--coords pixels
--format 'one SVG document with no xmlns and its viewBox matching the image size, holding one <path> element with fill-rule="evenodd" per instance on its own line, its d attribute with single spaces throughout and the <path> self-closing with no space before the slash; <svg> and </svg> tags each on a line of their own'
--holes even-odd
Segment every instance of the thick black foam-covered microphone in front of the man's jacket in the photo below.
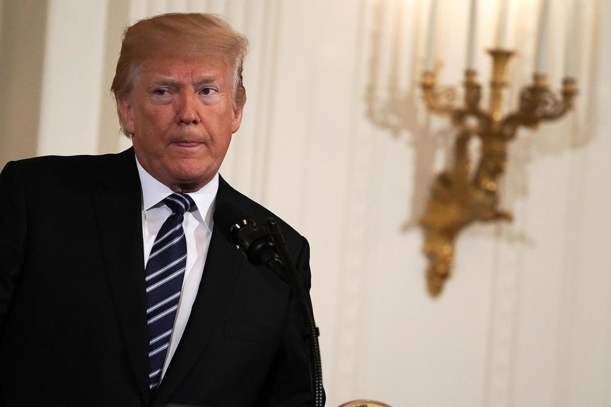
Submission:
<svg viewBox="0 0 611 407">
<path fill-rule="evenodd" d="M 268 232 L 258 229 L 257 223 L 238 204 L 222 203 L 214 209 L 213 218 L 225 237 L 240 247 L 249 262 L 266 265 L 271 270 L 282 265 Z"/>
</svg>

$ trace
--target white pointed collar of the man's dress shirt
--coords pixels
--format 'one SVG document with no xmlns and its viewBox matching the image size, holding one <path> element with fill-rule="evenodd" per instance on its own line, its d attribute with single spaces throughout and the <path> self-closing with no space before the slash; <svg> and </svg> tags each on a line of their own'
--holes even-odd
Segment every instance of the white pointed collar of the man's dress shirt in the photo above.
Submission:
<svg viewBox="0 0 611 407">
<path fill-rule="evenodd" d="M 138 168 L 140 185 L 142 186 L 142 211 L 148 211 L 153 207 L 159 206 L 158 204 L 161 203 L 166 196 L 174 193 L 169 187 L 157 181 L 142 168 L 137 157 L 136 167 Z M 203 185 L 203 187 L 196 192 L 189 192 L 187 194 L 193 198 L 193 201 L 197 205 L 197 209 L 193 212 L 193 215 L 198 218 L 210 232 L 212 232 L 213 226 L 212 214 L 214 212 L 214 199 L 216 198 L 216 192 L 218 192 L 218 190 L 219 173 L 217 172 L 208 184 Z"/>
</svg>

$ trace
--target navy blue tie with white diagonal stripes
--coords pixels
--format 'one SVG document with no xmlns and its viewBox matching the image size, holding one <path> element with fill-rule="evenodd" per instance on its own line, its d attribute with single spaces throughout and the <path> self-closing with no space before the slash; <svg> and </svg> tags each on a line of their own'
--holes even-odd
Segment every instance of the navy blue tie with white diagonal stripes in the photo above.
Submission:
<svg viewBox="0 0 611 407">
<path fill-rule="evenodd" d="M 155 391 L 172 336 L 187 263 L 187 243 L 183 230 L 186 211 L 195 206 L 190 196 L 172 193 L 163 200 L 172 210 L 161 225 L 148 256 L 147 286 L 148 384 Z"/>
</svg>

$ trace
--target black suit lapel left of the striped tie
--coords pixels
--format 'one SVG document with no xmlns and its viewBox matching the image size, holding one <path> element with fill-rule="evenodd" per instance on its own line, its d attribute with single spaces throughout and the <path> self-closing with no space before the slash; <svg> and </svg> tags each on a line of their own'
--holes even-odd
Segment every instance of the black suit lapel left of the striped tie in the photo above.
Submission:
<svg viewBox="0 0 611 407">
<path fill-rule="evenodd" d="M 128 357 L 148 403 L 148 331 L 142 245 L 141 187 L 133 149 L 104 168 L 93 193 L 106 272 Z"/>
</svg>

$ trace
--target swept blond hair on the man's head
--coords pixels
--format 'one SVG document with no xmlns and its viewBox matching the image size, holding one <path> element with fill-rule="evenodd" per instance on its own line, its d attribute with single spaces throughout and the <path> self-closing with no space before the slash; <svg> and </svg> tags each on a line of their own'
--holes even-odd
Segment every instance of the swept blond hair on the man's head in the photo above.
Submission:
<svg viewBox="0 0 611 407">
<path fill-rule="evenodd" d="M 159 53 L 194 58 L 222 56 L 229 63 L 233 109 L 237 109 L 246 103 L 242 68 L 247 50 L 247 38 L 217 15 L 167 13 L 145 18 L 123 32 L 111 91 L 115 100 L 129 95 L 139 64 Z"/>
</svg>

